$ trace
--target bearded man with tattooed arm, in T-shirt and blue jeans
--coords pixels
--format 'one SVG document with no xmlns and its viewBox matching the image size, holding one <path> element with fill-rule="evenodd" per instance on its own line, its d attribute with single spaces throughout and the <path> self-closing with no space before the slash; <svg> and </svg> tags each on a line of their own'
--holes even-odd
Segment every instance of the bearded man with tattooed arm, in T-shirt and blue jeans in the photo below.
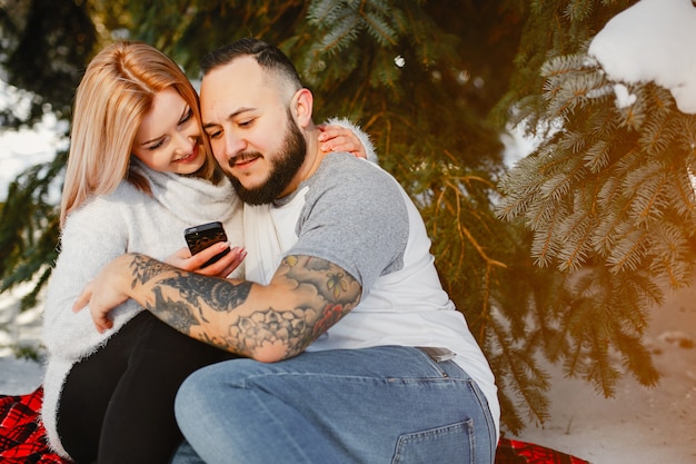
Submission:
<svg viewBox="0 0 696 464">
<path fill-rule="evenodd" d="M 493 463 L 493 374 L 405 191 L 370 162 L 319 150 L 311 92 L 277 48 L 243 39 L 202 70 L 216 159 L 259 205 L 245 227 L 247 277 L 260 283 L 131 254 L 77 306 L 89 303 L 107 329 L 130 297 L 249 357 L 200 369 L 179 391 L 177 419 L 207 463 Z"/>
</svg>

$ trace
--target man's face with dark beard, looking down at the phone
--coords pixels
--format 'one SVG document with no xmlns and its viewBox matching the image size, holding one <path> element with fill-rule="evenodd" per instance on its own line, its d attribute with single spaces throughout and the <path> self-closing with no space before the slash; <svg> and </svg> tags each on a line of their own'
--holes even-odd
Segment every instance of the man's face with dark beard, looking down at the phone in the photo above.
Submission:
<svg viewBox="0 0 696 464">
<path fill-rule="evenodd" d="M 252 205 L 290 194 L 307 151 L 289 97 L 272 82 L 243 57 L 206 75 L 200 90 L 212 152 L 239 197 Z"/>
</svg>

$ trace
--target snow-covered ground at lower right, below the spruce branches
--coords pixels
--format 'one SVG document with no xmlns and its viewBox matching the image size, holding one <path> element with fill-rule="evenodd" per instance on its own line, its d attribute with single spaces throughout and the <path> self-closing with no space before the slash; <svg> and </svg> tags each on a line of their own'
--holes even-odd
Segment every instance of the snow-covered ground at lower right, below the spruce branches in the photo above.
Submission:
<svg viewBox="0 0 696 464">
<path fill-rule="evenodd" d="M 646 388 L 626 377 L 605 399 L 583 382 L 549 368 L 551 418 L 530 425 L 519 440 L 594 464 L 696 463 L 696 288 L 680 290 L 655 308 L 646 344 L 660 374 Z"/>
</svg>

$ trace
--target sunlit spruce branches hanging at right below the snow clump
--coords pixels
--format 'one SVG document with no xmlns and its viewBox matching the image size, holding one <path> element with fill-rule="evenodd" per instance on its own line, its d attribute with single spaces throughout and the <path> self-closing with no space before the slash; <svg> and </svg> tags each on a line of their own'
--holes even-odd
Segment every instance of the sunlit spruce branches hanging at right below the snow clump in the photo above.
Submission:
<svg viewBox="0 0 696 464">
<path fill-rule="evenodd" d="M 609 396 L 624 368 L 657 382 L 647 312 L 693 279 L 696 117 L 652 82 L 628 86 L 636 101 L 618 108 L 618 82 L 586 48 L 543 65 L 541 111 L 527 115 L 555 132 L 504 177 L 498 214 L 523 221 L 536 263 L 563 273 L 570 298 L 545 302 L 563 327 L 556 356 Z"/>
</svg>

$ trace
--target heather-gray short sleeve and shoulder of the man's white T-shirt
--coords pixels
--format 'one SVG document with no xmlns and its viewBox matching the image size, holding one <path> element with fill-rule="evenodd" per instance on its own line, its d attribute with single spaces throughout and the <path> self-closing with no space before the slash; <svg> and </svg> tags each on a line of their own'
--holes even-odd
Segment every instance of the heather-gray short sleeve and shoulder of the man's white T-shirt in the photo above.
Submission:
<svg viewBox="0 0 696 464">
<path fill-rule="evenodd" d="M 364 294 L 379 276 L 404 268 L 408 214 L 389 174 L 350 155 L 332 154 L 297 191 L 304 187 L 305 205 L 295 225 L 298 240 L 286 255 L 334 263 L 360 283 Z"/>
</svg>

